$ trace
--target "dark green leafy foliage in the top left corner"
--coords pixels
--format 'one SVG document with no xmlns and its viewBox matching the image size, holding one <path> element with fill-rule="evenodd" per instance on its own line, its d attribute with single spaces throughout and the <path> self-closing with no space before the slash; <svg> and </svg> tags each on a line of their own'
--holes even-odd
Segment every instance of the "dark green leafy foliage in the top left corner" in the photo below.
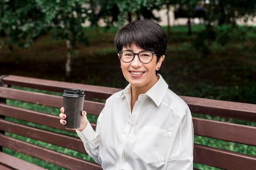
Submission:
<svg viewBox="0 0 256 170">
<path fill-rule="evenodd" d="M 0 30 L 7 38 L 3 45 L 30 47 L 31 43 L 45 34 L 45 13 L 36 0 L 4 0 L 0 2 Z"/>
</svg>

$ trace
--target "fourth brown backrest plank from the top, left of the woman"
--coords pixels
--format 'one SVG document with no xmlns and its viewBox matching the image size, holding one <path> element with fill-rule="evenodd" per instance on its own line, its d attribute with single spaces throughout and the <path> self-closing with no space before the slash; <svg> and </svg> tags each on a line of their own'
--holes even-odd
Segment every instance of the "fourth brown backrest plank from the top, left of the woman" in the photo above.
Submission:
<svg viewBox="0 0 256 170">
<path fill-rule="evenodd" d="M 77 137 L 16 124 L 4 119 L 0 119 L 0 130 L 86 153 L 83 142 Z"/>
</svg>

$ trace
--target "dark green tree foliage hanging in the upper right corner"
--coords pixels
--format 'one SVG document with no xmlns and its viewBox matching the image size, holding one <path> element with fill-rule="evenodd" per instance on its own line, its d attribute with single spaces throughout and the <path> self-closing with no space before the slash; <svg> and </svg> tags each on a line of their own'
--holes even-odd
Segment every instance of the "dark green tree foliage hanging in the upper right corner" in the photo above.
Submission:
<svg viewBox="0 0 256 170">
<path fill-rule="evenodd" d="M 255 17 L 256 1 L 254 0 L 209 0 L 204 18 L 205 30 L 198 33 L 193 45 L 204 56 L 210 53 L 210 45 L 216 41 L 222 46 L 231 39 L 231 32 L 237 31 L 244 35 L 237 27 L 237 20 L 243 18 L 245 22 Z M 229 29 L 222 26 L 230 26 Z M 240 38 L 242 40 L 242 37 Z"/>
</svg>

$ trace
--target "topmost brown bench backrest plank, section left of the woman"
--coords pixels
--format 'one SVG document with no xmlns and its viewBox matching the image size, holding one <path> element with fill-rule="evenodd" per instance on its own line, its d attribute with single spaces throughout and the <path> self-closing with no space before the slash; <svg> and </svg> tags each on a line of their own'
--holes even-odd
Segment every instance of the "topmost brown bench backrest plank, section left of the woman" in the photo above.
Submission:
<svg viewBox="0 0 256 170">
<path fill-rule="evenodd" d="M 55 91 L 63 93 L 67 88 L 78 88 L 85 91 L 87 97 L 106 99 L 113 93 L 120 91 L 119 88 L 93 86 L 86 84 L 76 84 L 69 82 L 59 82 L 53 80 L 45 80 L 31 77 L 22 77 L 16 75 L 8 75 L 2 78 L 2 82 L 8 85 L 24 86 L 47 91 Z"/>
</svg>

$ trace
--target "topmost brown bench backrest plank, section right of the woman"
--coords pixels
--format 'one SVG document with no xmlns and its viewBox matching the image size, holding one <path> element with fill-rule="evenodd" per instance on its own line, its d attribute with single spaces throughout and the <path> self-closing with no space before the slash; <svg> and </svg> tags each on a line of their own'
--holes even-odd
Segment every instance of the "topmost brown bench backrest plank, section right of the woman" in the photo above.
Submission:
<svg viewBox="0 0 256 170">
<path fill-rule="evenodd" d="M 180 96 L 192 113 L 256 121 L 256 104 Z"/>
</svg>

